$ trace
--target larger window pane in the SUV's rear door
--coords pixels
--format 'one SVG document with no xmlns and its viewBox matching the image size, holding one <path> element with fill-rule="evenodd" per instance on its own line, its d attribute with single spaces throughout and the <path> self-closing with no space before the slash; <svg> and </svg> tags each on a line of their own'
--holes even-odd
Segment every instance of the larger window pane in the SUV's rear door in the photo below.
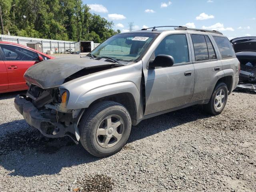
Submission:
<svg viewBox="0 0 256 192">
<path fill-rule="evenodd" d="M 204 35 L 191 35 L 196 61 L 209 60 L 208 49 Z"/>
</svg>

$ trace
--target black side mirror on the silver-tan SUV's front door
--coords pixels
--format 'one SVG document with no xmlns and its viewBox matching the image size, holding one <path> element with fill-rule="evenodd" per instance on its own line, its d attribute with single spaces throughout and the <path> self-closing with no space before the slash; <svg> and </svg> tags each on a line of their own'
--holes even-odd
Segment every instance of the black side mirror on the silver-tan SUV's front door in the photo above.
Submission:
<svg viewBox="0 0 256 192">
<path fill-rule="evenodd" d="M 149 69 L 154 69 L 156 67 L 171 67 L 174 64 L 174 58 L 170 55 L 158 55 L 153 60 L 148 63 Z"/>
</svg>

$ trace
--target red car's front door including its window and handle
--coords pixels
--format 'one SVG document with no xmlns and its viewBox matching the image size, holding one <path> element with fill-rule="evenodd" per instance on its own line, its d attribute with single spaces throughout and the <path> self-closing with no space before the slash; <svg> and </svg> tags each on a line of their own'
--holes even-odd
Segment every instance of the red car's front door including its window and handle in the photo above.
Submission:
<svg viewBox="0 0 256 192">
<path fill-rule="evenodd" d="M 26 70 L 39 62 L 38 54 L 16 45 L 0 44 L 8 74 L 8 89 L 26 88 L 23 78 Z"/>
</svg>

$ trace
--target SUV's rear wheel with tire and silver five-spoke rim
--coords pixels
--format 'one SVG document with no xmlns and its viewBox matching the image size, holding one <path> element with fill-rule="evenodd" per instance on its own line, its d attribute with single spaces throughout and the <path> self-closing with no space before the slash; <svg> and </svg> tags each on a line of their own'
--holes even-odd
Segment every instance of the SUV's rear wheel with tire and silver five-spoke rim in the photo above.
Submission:
<svg viewBox="0 0 256 192">
<path fill-rule="evenodd" d="M 224 95 L 224 98 L 222 98 L 223 95 Z M 219 83 L 215 86 L 209 103 L 203 105 L 204 111 L 212 115 L 218 115 L 225 108 L 227 100 L 228 100 L 227 85 L 225 83 Z"/>
</svg>

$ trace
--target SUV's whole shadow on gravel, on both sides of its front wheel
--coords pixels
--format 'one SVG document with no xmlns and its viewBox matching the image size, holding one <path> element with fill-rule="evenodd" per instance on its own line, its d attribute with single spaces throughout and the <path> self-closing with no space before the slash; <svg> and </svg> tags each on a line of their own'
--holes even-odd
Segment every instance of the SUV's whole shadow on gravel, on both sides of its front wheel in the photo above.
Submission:
<svg viewBox="0 0 256 192">
<path fill-rule="evenodd" d="M 128 142 L 157 134 L 186 122 L 209 117 L 202 113 L 200 106 L 193 106 L 150 118 L 133 126 Z M 17 120 L 0 127 L 26 124 Z M 125 148 L 125 147 L 124 147 Z M 61 174 L 62 168 L 86 164 L 100 160 L 90 155 L 68 137 L 46 138 L 36 129 L 25 128 L 18 132 L 8 132 L 0 136 L 0 166 L 10 171 L 12 176 L 32 177 L 42 174 Z"/>
</svg>

